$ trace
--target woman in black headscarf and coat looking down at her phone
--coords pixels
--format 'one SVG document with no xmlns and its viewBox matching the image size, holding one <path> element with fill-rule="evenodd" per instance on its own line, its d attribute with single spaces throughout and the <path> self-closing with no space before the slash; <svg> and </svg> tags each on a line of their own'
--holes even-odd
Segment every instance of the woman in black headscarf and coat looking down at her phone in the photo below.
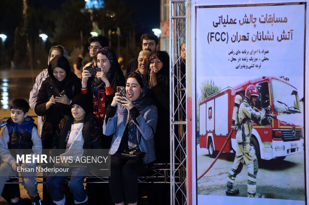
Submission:
<svg viewBox="0 0 309 205">
<path fill-rule="evenodd" d="M 71 72 L 68 60 L 55 56 L 48 65 L 48 75 L 37 95 L 34 111 L 44 116 L 42 128 L 42 146 L 50 148 L 51 139 L 60 120 L 70 112 L 70 101 L 80 93 L 80 79 Z"/>
</svg>

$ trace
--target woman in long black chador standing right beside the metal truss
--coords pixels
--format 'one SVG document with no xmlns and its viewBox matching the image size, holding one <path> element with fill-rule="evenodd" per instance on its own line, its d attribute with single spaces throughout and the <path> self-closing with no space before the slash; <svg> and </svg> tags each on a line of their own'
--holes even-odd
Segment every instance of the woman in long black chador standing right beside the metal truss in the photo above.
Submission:
<svg viewBox="0 0 309 205">
<path fill-rule="evenodd" d="M 166 52 L 154 51 L 150 55 L 150 96 L 157 107 L 157 125 L 154 135 L 155 158 L 157 163 L 169 163 L 169 57 Z M 169 204 L 169 185 L 147 186 L 150 205 Z M 162 193 L 165 193 L 162 195 Z"/>
</svg>

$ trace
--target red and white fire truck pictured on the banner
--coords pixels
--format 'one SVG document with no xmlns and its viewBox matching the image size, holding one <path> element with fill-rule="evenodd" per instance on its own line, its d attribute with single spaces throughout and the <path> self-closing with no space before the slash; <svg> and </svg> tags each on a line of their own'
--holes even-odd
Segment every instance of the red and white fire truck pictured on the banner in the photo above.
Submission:
<svg viewBox="0 0 309 205">
<path fill-rule="evenodd" d="M 259 89 L 260 96 L 255 107 L 261 110 L 270 105 L 270 114 L 275 116 L 266 126 L 253 124 L 250 144 L 257 158 L 283 160 L 288 155 L 303 152 L 303 126 L 296 125 L 292 120 L 293 115 L 301 113 L 297 89 L 282 78 L 270 76 L 249 80 L 233 88 L 227 87 L 201 102 L 199 104 L 199 146 L 207 148 L 211 157 L 217 155 L 233 129 L 232 114 L 235 96 L 240 95 L 244 99 L 245 90 L 250 84 L 256 85 Z M 288 117 L 285 119 L 290 120 L 283 121 L 280 117 L 284 115 Z M 223 151 L 235 152 L 236 131 L 232 132 L 231 139 L 228 140 Z"/>
</svg>

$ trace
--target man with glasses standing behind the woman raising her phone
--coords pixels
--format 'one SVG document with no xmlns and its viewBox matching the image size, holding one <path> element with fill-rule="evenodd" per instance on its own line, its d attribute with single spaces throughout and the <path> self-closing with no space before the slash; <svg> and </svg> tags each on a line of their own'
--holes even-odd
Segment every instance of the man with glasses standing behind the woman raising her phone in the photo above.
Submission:
<svg viewBox="0 0 309 205">
<path fill-rule="evenodd" d="M 88 63 L 85 67 L 97 67 L 97 52 L 99 49 L 108 46 L 108 40 L 102 35 L 93 36 L 89 39 L 90 46 L 89 55 L 92 58 L 92 62 Z"/>
</svg>

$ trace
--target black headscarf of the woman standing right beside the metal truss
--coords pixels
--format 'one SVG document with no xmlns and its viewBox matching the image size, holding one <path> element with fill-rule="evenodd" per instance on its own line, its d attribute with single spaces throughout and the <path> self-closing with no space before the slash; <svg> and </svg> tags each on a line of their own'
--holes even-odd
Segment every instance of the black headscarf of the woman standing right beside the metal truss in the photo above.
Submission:
<svg viewBox="0 0 309 205">
<path fill-rule="evenodd" d="M 157 83 L 162 86 L 168 86 L 168 80 L 169 80 L 169 56 L 166 52 L 164 51 L 154 51 L 151 53 L 149 57 L 149 62 L 152 59 L 159 59 L 160 62 L 162 62 L 163 67 L 155 73 Z M 150 65 L 150 63 L 149 63 Z"/>
</svg>

